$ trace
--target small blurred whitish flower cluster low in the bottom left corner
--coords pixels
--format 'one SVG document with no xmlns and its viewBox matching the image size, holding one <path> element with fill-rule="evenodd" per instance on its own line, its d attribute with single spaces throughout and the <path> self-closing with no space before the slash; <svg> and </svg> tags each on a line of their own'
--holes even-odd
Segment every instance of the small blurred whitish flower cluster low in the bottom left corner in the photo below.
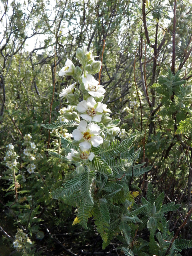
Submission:
<svg viewBox="0 0 192 256">
<path fill-rule="evenodd" d="M 26 251 L 26 249 L 29 249 L 32 245 L 32 241 L 28 238 L 28 234 L 25 234 L 23 230 L 18 229 L 15 240 L 13 242 L 13 247 L 16 248 L 18 252 Z"/>
</svg>

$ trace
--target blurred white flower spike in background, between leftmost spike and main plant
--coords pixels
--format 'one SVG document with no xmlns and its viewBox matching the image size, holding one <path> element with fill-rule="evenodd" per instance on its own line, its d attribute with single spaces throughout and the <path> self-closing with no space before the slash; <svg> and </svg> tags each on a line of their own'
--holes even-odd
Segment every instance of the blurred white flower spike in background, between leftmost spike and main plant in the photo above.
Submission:
<svg viewBox="0 0 192 256">
<path fill-rule="evenodd" d="M 37 153 L 37 147 L 34 142 L 32 142 L 32 136 L 28 133 L 24 136 L 24 143 L 23 146 L 26 146 L 26 148 L 23 151 L 23 160 L 27 163 L 27 171 L 28 173 L 33 173 L 36 169 L 36 153 Z"/>
</svg>

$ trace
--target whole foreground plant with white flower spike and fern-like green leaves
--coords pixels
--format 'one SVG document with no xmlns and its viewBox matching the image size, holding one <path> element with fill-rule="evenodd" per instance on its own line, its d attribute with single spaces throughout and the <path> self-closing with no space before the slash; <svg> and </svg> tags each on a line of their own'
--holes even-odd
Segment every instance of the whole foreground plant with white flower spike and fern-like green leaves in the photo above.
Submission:
<svg viewBox="0 0 192 256">
<path fill-rule="evenodd" d="M 142 198 L 142 206 L 134 203 L 139 194 L 134 190 L 140 189 L 133 184 L 133 178 L 152 167 L 135 164 L 140 149 L 134 152 L 134 136 L 121 142 L 115 139 L 120 132 L 117 127 L 120 120 L 110 118 L 110 110 L 102 103 L 104 86 L 93 76 L 100 71 L 102 63 L 95 61 L 95 56 L 86 48 L 78 48 L 76 57 L 81 68 L 67 59 L 59 72 L 59 76 L 68 75 L 76 80 L 60 93 L 67 105 L 62 108 L 62 119 L 42 125 L 58 131 L 64 154 L 49 153 L 76 166 L 73 178 L 52 192 L 52 197 L 62 198 L 64 203 L 77 208 L 73 225 L 80 224 L 86 229 L 92 217 L 103 248 L 116 236 L 126 255 L 176 255 L 180 248 L 186 247 L 175 240 L 171 250 L 168 249 L 173 233 L 168 230 L 164 213 L 177 210 L 180 205 L 162 206 L 164 195 L 155 199 L 152 186 L 149 186 L 147 200 Z M 71 135 L 62 136 L 62 129 L 66 132 L 67 128 L 73 140 Z M 150 231 L 149 239 L 137 239 L 137 232 L 146 228 Z M 187 247 L 190 245 L 189 242 Z"/>
</svg>

